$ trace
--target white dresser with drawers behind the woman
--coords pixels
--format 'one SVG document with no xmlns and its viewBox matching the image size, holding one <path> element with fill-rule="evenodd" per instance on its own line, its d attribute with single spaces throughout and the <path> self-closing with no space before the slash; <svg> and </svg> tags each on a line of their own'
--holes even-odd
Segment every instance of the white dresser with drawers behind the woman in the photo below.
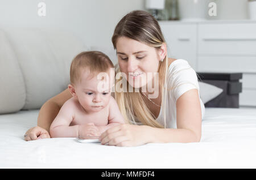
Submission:
<svg viewBox="0 0 256 180">
<path fill-rule="evenodd" d="M 168 57 L 197 72 L 242 72 L 240 106 L 256 106 L 256 21 L 160 21 Z"/>
</svg>

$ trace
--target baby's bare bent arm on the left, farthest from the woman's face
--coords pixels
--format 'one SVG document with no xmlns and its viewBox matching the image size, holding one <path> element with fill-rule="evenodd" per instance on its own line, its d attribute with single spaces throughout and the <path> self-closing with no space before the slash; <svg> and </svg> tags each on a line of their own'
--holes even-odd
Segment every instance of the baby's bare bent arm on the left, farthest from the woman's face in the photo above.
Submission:
<svg viewBox="0 0 256 180">
<path fill-rule="evenodd" d="M 51 138 L 61 137 L 77 137 L 79 135 L 79 125 L 69 126 L 74 118 L 75 104 L 72 100 L 68 100 L 61 107 L 59 114 L 53 120 L 50 127 Z"/>
</svg>

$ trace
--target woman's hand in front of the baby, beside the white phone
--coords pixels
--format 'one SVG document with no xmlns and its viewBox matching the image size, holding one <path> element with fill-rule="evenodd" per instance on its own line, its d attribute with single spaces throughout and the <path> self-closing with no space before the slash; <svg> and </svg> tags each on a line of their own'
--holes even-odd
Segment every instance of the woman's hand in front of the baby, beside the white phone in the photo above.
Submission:
<svg viewBox="0 0 256 180">
<path fill-rule="evenodd" d="M 122 124 L 110 127 L 99 138 L 101 144 L 137 146 L 150 142 L 150 126 Z"/>
</svg>

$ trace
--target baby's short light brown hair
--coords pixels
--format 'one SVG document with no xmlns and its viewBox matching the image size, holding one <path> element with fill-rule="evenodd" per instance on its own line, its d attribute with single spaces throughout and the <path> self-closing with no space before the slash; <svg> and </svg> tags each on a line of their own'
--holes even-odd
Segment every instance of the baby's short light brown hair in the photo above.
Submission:
<svg viewBox="0 0 256 180">
<path fill-rule="evenodd" d="M 70 82 L 72 84 L 81 80 L 81 71 L 85 68 L 90 71 L 90 77 L 93 78 L 100 72 L 107 72 L 109 68 L 114 68 L 114 65 L 108 55 L 102 52 L 81 52 L 76 55 L 71 63 Z"/>
</svg>

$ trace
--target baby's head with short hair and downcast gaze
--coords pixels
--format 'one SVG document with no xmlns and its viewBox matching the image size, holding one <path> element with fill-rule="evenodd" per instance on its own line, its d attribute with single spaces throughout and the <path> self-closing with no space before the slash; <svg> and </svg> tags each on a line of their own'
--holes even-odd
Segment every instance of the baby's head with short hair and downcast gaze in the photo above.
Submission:
<svg viewBox="0 0 256 180">
<path fill-rule="evenodd" d="M 99 112 L 109 104 L 114 85 L 110 68 L 114 65 L 109 57 L 97 51 L 82 52 L 73 59 L 68 88 L 86 112 Z M 101 72 L 108 74 L 108 78 L 100 76 Z"/>
</svg>

